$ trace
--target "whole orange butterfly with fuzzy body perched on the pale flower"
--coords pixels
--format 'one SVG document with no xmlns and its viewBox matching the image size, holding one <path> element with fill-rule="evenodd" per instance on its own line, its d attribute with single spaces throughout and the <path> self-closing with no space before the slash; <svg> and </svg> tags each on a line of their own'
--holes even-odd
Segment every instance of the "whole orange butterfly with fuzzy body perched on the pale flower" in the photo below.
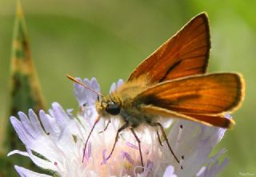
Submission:
<svg viewBox="0 0 256 177">
<path fill-rule="evenodd" d="M 159 116 L 220 128 L 230 128 L 234 124 L 234 120 L 225 118 L 224 114 L 234 112 L 242 104 L 245 90 L 243 77 L 239 73 L 206 73 L 209 55 L 210 26 L 207 14 L 202 13 L 142 61 L 114 92 L 106 96 L 96 92 L 98 118 L 90 134 L 100 119 L 109 120 L 109 124 L 111 117 L 118 116 L 122 122 L 106 159 L 113 154 L 119 133 L 129 128 L 138 141 L 143 167 L 140 140 L 134 129 L 146 124 L 160 128 L 170 152 L 180 163 L 158 121 Z M 89 88 L 74 77 L 67 77 Z M 161 142 L 159 135 L 158 140 Z M 85 149 L 86 145 L 84 154 Z"/>
</svg>

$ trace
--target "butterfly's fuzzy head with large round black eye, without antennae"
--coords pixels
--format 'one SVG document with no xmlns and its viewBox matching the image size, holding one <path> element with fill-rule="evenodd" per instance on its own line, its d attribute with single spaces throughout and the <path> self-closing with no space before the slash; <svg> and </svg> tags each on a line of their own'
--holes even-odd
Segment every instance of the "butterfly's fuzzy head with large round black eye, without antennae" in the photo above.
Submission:
<svg viewBox="0 0 256 177">
<path fill-rule="evenodd" d="M 98 98 L 96 102 L 96 110 L 103 117 L 117 116 L 121 112 L 121 105 L 111 96 Z"/>
</svg>

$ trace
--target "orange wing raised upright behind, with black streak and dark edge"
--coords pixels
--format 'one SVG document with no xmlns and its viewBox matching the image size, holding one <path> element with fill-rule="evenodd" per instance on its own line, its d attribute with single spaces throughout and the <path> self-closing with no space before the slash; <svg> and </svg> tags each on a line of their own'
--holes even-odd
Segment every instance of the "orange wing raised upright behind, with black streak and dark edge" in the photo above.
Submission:
<svg viewBox="0 0 256 177">
<path fill-rule="evenodd" d="M 128 81 L 145 74 L 150 83 L 157 83 L 206 73 L 209 51 L 209 22 L 202 13 L 138 65 Z"/>
</svg>

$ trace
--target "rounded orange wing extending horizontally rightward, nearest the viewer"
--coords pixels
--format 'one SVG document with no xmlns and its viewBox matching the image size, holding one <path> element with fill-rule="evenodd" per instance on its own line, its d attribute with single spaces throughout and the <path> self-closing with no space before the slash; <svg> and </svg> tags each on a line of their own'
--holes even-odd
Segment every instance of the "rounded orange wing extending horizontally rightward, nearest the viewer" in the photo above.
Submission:
<svg viewBox="0 0 256 177">
<path fill-rule="evenodd" d="M 214 73 L 185 77 L 154 85 L 135 97 L 142 104 L 182 114 L 218 114 L 233 111 L 243 99 L 242 76 Z"/>
</svg>

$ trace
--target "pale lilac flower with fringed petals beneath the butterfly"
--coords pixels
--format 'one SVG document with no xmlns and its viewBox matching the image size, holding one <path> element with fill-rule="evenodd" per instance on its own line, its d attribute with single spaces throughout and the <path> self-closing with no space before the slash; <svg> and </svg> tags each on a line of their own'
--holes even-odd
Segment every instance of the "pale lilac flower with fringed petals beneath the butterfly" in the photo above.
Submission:
<svg viewBox="0 0 256 177">
<path fill-rule="evenodd" d="M 79 79 L 80 80 L 80 79 Z M 82 80 L 80 80 L 82 81 Z M 83 81 L 99 92 L 96 79 Z M 111 85 L 110 92 L 122 85 L 123 81 Z M 53 103 L 48 113 L 39 112 L 39 116 L 29 110 L 28 116 L 18 112 L 19 119 L 11 116 L 10 121 L 26 151 L 11 151 L 8 155 L 20 154 L 29 157 L 38 167 L 55 171 L 60 176 L 197 176 L 212 177 L 228 163 L 224 159 L 218 162 L 222 149 L 217 155 L 209 157 L 226 129 L 206 127 L 187 120 L 168 121 L 165 124 L 168 140 L 175 155 L 181 160 L 178 164 L 162 141 L 158 143 L 155 129 L 138 128 L 136 133 L 141 140 L 144 168 L 141 167 L 138 142 L 129 130 L 123 131 L 110 159 L 106 159 L 114 144 L 115 134 L 120 126 L 119 120 L 111 120 L 109 128 L 101 132 L 106 121 L 101 119 L 87 144 L 85 159 L 82 163 L 83 148 L 95 118 L 98 116 L 94 103 L 97 95 L 81 85 L 74 84 L 74 94 L 80 111 L 74 115 L 72 109 L 65 111 L 58 103 Z M 230 115 L 226 116 L 231 119 Z M 170 123 L 172 123 L 170 125 Z M 36 155 L 37 152 L 40 155 Z M 44 158 L 42 158 L 42 156 Z M 183 169 L 181 169 L 181 165 Z M 50 176 L 14 166 L 21 176 Z"/>
</svg>

